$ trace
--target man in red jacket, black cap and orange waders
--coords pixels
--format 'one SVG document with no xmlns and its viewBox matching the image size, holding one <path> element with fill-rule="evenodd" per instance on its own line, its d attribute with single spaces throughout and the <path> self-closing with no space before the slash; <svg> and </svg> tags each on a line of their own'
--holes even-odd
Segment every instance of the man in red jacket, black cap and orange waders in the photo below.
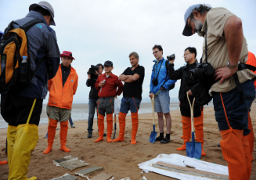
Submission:
<svg viewBox="0 0 256 180">
<path fill-rule="evenodd" d="M 99 75 L 95 87 L 99 90 L 99 100 L 98 104 L 98 128 L 99 128 L 99 138 L 94 142 L 103 141 L 104 135 L 104 117 L 106 113 L 106 123 L 107 123 L 107 142 L 112 142 L 112 128 L 113 128 L 113 112 L 114 112 L 114 97 L 121 95 L 123 92 L 124 85 L 118 80 L 118 77 L 112 74 L 114 69 L 113 63 L 107 60 L 104 63 L 105 74 Z M 117 90 L 118 87 L 118 90 Z"/>
</svg>

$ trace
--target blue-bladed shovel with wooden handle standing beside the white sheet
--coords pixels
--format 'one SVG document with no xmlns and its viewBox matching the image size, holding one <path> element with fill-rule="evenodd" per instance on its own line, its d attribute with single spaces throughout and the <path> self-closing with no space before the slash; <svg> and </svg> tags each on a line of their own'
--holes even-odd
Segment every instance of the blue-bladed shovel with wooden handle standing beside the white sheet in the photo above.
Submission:
<svg viewBox="0 0 256 180">
<path fill-rule="evenodd" d="M 189 100 L 189 92 L 186 92 L 186 95 Z M 202 145 L 201 142 L 195 142 L 195 130 L 194 130 L 194 114 L 193 114 L 193 106 L 195 103 L 195 98 L 193 99 L 193 105 L 189 101 L 190 112 L 191 112 L 191 133 L 192 133 L 192 142 L 186 142 L 186 155 L 191 158 L 200 159 L 202 153 Z"/>
</svg>

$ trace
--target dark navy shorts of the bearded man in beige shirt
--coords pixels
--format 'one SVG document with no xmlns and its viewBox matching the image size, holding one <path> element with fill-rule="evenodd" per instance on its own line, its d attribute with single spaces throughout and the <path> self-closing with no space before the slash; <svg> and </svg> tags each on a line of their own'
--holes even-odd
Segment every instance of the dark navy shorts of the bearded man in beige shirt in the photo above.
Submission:
<svg viewBox="0 0 256 180">
<path fill-rule="evenodd" d="M 229 124 L 233 129 L 243 130 L 243 135 L 249 135 L 248 111 L 254 101 L 255 90 L 253 81 L 245 81 L 240 84 L 243 88 L 243 102 L 240 103 L 238 88 L 233 88 L 229 92 L 222 92 L 222 99 L 225 111 L 229 119 Z M 222 106 L 222 99 L 219 92 L 213 93 L 213 103 L 215 107 L 215 118 L 220 131 L 229 129 L 225 119 L 225 112 Z"/>
</svg>

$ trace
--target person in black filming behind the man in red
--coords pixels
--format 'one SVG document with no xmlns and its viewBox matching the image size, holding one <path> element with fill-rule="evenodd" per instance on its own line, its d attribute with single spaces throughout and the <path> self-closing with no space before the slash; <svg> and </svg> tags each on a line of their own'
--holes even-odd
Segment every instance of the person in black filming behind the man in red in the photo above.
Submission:
<svg viewBox="0 0 256 180">
<path fill-rule="evenodd" d="M 87 87 L 91 87 L 90 93 L 89 93 L 89 116 L 88 116 L 88 135 L 87 138 L 92 138 L 92 126 L 93 126 L 93 119 L 95 110 L 97 108 L 97 100 L 99 99 L 98 92 L 99 90 L 96 89 L 95 84 L 97 81 L 97 78 L 100 74 L 103 73 L 104 67 L 101 63 L 98 63 L 96 66 L 92 66 L 88 70 L 88 80 L 86 81 Z M 106 134 L 104 133 L 104 136 Z"/>
</svg>

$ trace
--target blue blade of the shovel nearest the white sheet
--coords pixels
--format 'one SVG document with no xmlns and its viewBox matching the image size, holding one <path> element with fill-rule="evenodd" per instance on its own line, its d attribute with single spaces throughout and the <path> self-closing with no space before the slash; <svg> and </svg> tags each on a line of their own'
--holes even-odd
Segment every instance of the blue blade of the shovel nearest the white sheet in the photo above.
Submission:
<svg viewBox="0 0 256 180">
<path fill-rule="evenodd" d="M 192 132 L 192 142 L 186 142 L 186 155 L 191 158 L 200 159 L 201 153 L 201 142 L 195 142 L 194 132 Z"/>
</svg>

